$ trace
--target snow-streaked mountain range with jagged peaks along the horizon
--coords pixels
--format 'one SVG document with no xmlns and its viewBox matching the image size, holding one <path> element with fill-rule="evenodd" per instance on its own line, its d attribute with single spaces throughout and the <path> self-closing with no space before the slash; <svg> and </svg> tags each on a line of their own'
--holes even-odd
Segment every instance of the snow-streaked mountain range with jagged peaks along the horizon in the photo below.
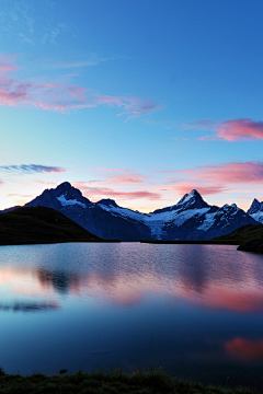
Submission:
<svg viewBox="0 0 263 394">
<path fill-rule="evenodd" d="M 254 199 L 244 212 L 236 204 L 210 206 L 195 189 L 171 207 L 141 213 L 122 208 L 113 199 L 92 202 L 69 182 L 64 182 L 56 188 L 45 189 L 24 207 L 37 206 L 64 213 L 102 239 L 121 241 L 210 240 L 241 225 L 263 223 L 263 202 Z"/>
</svg>

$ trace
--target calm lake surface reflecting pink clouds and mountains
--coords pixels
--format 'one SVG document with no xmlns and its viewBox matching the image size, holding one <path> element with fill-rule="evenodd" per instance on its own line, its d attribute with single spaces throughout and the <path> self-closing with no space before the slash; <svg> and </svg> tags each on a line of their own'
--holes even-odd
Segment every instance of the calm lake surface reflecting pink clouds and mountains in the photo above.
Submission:
<svg viewBox="0 0 263 394">
<path fill-rule="evenodd" d="M 151 366 L 263 385 L 263 256 L 222 245 L 0 247 L 0 366 L 57 374 Z"/>
</svg>

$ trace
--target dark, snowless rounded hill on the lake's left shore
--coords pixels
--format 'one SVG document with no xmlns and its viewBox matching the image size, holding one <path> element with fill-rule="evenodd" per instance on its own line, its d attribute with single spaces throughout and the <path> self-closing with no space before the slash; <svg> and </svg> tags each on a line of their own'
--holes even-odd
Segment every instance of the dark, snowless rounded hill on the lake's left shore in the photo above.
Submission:
<svg viewBox="0 0 263 394">
<path fill-rule="evenodd" d="M 46 207 L 0 215 L 0 245 L 102 241 L 62 213 Z"/>
</svg>

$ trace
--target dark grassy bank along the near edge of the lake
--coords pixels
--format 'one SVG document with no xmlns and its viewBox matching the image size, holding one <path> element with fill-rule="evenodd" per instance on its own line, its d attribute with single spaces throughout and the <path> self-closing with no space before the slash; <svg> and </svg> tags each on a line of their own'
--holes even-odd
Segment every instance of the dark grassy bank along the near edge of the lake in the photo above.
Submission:
<svg viewBox="0 0 263 394">
<path fill-rule="evenodd" d="M 61 371 L 62 372 L 62 371 Z M 1 394 L 252 394 L 245 389 L 222 389 L 203 386 L 169 376 L 161 370 L 138 370 L 127 374 L 118 370 L 107 373 L 95 371 L 84 373 L 81 370 L 70 375 L 46 376 L 35 373 L 30 376 L 5 374 L 0 369 Z"/>
</svg>

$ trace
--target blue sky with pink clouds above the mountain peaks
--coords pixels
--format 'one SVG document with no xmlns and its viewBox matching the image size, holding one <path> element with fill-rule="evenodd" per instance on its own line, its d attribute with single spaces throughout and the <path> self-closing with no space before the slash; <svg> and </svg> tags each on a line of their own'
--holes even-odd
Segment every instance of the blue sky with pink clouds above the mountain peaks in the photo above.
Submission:
<svg viewBox="0 0 263 394">
<path fill-rule="evenodd" d="M 263 200 L 263 2 L 0 1 L 0 209 Z"/>
</svg>

